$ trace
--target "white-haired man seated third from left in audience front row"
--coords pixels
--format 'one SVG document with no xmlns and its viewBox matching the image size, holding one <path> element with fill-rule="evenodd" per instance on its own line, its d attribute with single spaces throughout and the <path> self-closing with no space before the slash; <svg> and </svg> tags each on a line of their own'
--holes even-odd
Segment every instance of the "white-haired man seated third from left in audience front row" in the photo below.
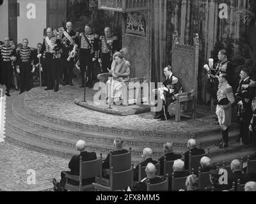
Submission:
<svg viewBox="0 0 256 204">
<path fill-rule="evenodd" d="M 142 166 L 147 166 L 148 163 L 152 163 L 154 165 L 156 165 L 158 163 L 158 161 L 155 161 L 152 159 L 153 157 L 153 151 L 150 148 L 145 148 L 143 149 L 143 153 L 141 155 L 141 157 L 144 159 L 144 161 L 142 161 L 141 167 Z M 136 168 L 133 171 L 133 180 L 138 180 L 139 179 L 139 164 L 136 166 Z"/>
</svg>

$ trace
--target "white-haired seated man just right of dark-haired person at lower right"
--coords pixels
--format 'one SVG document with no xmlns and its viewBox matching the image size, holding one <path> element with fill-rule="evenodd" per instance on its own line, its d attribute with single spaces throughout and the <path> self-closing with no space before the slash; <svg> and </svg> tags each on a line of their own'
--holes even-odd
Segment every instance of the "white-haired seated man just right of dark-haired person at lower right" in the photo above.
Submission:
<svg viewBox="0 0 256 204">
<path fill-rule="evenodd" d="M 242 164 L 238 159 L 234 159 L 231 162 L 230 168 L 232 173 L 228 173 L 228 187 L 232 187 L 232 182 L 237 184 L 237 179 L 240 179 L 240 184 L 245 184 L 252 179 L 252 175 L 241 171 L 241 165 Z"/>
</svg>

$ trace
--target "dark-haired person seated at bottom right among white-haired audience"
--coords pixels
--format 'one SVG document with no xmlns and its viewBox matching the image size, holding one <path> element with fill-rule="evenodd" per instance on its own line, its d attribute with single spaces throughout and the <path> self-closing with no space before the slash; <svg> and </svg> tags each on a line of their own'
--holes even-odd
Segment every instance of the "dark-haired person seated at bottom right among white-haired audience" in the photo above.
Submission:
<svg viewBox="0 0 256 204">
<path fill-rule="evenodd" d="M 219 179 L 221 175 L 219 174 L 219 170 L 211 169 L 209 172 L 210 182 L 212 185 L 207 186 L 206 191 L 225 191 L 230 189 L 227 185 L 220 184 Z"/>
</svg>

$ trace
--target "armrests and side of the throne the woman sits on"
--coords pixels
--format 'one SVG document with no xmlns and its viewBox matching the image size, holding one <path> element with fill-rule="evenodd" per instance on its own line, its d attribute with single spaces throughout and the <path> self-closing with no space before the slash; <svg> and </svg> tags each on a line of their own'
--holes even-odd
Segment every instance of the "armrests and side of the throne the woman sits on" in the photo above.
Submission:
<svg viewBox="0 0 256 204">
<path fill-rule="evenodd" d="M 99 82 L 106 84 L 108 78 L 112 75 L 110 73 L 102 73 L 97 76 Z M 122 87 L 123 93 L 123 105 L 134 105 L 145 103 L 148 101 L 147 96 L 143 96 L 143 92 L 147 93 L 147 86 L 143 86 L 143 84 L 147 82 L 147 78 L 145 77 L 137 77 L 137 78 L 129 78 L 124 81 L 125 86 Z M 102 92 L 104 92 L 102 90 Z"/>
</svg>

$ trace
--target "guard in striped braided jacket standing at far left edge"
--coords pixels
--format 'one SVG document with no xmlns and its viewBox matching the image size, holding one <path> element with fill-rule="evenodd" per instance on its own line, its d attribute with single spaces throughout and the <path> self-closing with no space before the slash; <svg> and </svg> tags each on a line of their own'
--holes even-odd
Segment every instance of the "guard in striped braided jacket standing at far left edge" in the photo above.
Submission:
<svg viewBox="0 0 256 204">
<path fill-rule="evenodd" d="M 1 77 L 2 83 L 6 85 L 6 96 L 10 96 L 10 85 L 12 82 L 13 66 L 12 62 L 17 59 L 16 50 L 13 50 L 10 46 L 10 38 L 4 38 L 4 45 L 0 47 L 0 57 L 1 57 Z"/>
</svg>

